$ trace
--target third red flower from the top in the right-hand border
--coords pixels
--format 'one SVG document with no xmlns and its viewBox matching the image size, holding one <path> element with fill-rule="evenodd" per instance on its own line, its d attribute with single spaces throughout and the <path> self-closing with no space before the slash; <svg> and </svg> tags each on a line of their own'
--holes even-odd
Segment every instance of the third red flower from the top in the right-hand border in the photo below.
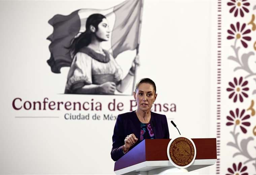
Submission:
<svg viewBox="0 0 256 175">
<path fill-rule="evenodd" d="M 238 82 L 237 82 L 237 79 L 234 77 L 234 83 L 229 82 L 228 84 L 230 85 L 230 87 L 227 88 L 227 91 L 231 92 L 228 98 L 231 99 L 234 96 L 234 94 L 235 94 L 234 102 L 236 102 L 238 96 L 239 96 L 240 102 L 244 101 L 243 96 L 245 98 L 248 98 L 248 95 L 245 93 L 245 91 L 249 90 L 248 87 L 245 87 L 248 84 L 248 81 L 243 82 L 243 77 L 240 77 Z"/>
</svg>

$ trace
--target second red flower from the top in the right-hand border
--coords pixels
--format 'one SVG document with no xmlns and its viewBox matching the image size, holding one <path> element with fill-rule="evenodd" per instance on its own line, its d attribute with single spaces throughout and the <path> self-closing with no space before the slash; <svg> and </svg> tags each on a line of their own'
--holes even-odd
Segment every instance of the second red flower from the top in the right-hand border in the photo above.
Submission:
<svg viewBox="0 0 256 175">
<path fill-rule="evenodd" d="M 230 27 L 231 27 L 232 30 L 229 30 L 229 29 L 227 30 L 228 33 L 230 34 L 230 35 L 227 37 L 227 39 L 233 39 L 233 38 L 240 39 L 242 45 L 243 45 L 245 48 L 247 48 L 248 45 L 247 45 L 247 43 L 246 43 L 244 40 L 251 41 L 252 38 L 251 38 L 250 36 L 244 36 L 244 35 L 250 33 L 251 30 L 250 30 L 250 29 L 247 29 L 247 30 L 244 31 L 244 29 L 245 29 L 245 27 L 246 27 L 246 24 L 244 23 L 244 24 L 241 26 L 241 28 L 240 28 L 240 23 L 239 23 L 239 22 L 236 23 L 236 27 L 235 27 L 233 24 L 230 24 Z M 243 31 L 244 31 L 244 32 L 243 32 Z"/>
</svg>

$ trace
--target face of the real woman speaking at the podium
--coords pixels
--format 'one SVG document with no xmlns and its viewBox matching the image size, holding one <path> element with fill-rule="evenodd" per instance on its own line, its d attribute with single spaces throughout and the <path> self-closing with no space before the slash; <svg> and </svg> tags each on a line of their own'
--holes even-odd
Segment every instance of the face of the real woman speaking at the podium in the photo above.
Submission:
<svg viewBox="0 0 256 175">
<path fill-rule="evenodd" d="M 147 111 L 151 109 L 157 94 L 155 93 L 153 85 L 149 83 L 141 83 L 136 93 L 133 92 L 133 97 L 137 102 L 137 109 Z"/>
</svg>

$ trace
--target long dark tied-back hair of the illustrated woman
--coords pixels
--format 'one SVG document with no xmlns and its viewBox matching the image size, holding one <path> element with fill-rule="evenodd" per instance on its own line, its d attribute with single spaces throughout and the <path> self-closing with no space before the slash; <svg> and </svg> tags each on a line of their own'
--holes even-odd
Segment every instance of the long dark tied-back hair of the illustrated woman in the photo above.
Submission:
<svg viewBox="0 0 256 175">
<path fill-rule="evenodd" d="M 92 41 L 92 32 L 90 30 L 90 26 L 93 25 L 98 30 L 98 25 L 102 22 L 102 20 L 106 18 L 106 16 L 95 13 L 91 14 L 86 21 L 86 31 L 81 33 L 77 38 L 75 38 L 72 44 L 68 47 L 70 49 L 71 55 L 75 55 L 82 47 L 88 46 Z"/>
</svg>

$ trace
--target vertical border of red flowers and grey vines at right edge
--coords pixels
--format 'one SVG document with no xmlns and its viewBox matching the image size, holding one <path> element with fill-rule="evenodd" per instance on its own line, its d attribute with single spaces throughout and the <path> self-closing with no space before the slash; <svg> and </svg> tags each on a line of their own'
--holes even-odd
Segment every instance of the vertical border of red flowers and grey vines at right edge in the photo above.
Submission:
<svg viewBox="0 0 256 175">
<path fill-rule="evenodd" d="M 255 55 L 256 50 L 256 41 L 253 45 L 251 45 L 250 42 L 252 39 L 256 39 L 252 38 L 253 34 L 256 34 L 255 15 L 253 14 L 253 12 L 256 12 L 256 5 L 252 8 L 252 11 L 250 11 L 251 2 L 249 2 L 249 0 L 229 0 L 227 5 L 230 7 L 229 13 L 233 15 L 234 18 L 239 17 L 239 20 L 244 21 L 244 16 L 252 16 L 248 23 L 238 21 L 235 24 L 230 24 L 230 28 L 227 30 L 227 40 L 234 40 L 234 44 L 231 45 L 231 48 L 234 51 L 233 55 L 229 56 L 227 59 L 238 64 L 238 66 L 234 68 L 234 72 L 243 70 L 247 73 L 245 77 L 234 77 L 232 81 L 229 81 L 226 88 L 228 99 L 231 103 L 237 105 L 242 103 L 247 104 L 248 102 L 250 104 L 248 109 L 236 108 L 235 110 L 230 110 L 229 114 L 226 116 L 226 126 L 233 126 L 233 131 L 230 131 L 232 141 L 227 143 L 227 146 L 236 149 L 232 158 L 237 155 L 242 155 L 246 158 L 245 162 L 242 163 L 239 161 L 239 163 L 233 163 L 231 168 L 227 168 L 227 175 L 230 173 L 248 175 L 247 171 L 250 170 L 247 170 L 247 166 L 245 166 L 248 163 L 252 163 L 255 167 L 255 171 L 249 173 L 252 174 L 256 172 L 256 155 L 252 155 L 252 153 L 248 151 L 248 143 L 254 140 L 252 137 L 253 135 L 256 136 L 256 126 L 253 128 L 252 132 L 249 132 L 249 135 L 252 134 L 252 136 L 248 137 L 247 134 L 248 127 L 253 124 L 252 117 L 255 116 L 254 100 L 252 99 L 252 96 L 256 94 L 256 87 L 251 81 L 254 80 L 256 82 L 256 72 L 250 68 L 249 59 Z M 239 54 L 239 49 L 241 47 L 244 48 L 243 50 L 245 51 L 242 54 Z M 252 77 L 254 78 L 252 79 Z M 251 86 L 249 86 L 249 84 L 251 84 Z M 249 87 L 252 86 L 254 86 L 254 90 L 250 94 Z M 240 130 L 236 130 L 237 127 L 239 127 Z M 239 135 L 240 139 L 238 139 Z M 243 139 L 241 139 L 241 137 Z M 254 141 L 254 144 L 255 143 L 256 142 Z M 254 148 L 256 149 L 256 144 Z"/>
</svg>

